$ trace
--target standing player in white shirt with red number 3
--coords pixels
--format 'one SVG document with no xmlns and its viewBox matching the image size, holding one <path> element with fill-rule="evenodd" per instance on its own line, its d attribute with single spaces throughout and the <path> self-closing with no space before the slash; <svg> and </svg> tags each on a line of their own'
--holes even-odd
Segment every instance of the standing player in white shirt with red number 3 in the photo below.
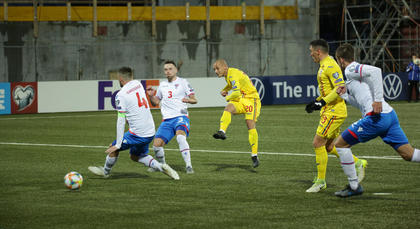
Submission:
<svg viewBox="0 0 420 229">
<path fill-rule="evenodd" d="M 153 141 L 153 150 L 158 161 L 165 163 L 163 146 L 176 135 L 176 140 L 185 161 L 187 174 L 194 173 L 191 164 L 190 146 L 187 137 L 190 133 L 190 119 L 188 118 L 187 103 L 196 104 L 194 89 L 186 79 L 177 76 L 178 69 L 175 62 L 168 60 L 163 66 L 168 81 L 161 82 L 156 92 L 152 87 L 147 88 L 150 102 L 153 106 L 160 103 L 163 121 L 157 130 Z M 152 169 L 149 169 L 152 172 Z"/>
</svg>

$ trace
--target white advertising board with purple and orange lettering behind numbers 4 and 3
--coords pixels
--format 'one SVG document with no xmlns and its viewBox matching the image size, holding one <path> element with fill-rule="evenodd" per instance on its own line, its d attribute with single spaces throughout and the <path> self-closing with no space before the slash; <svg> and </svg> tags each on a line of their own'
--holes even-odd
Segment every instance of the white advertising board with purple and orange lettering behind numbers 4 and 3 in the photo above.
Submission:
<svg viewBox="0 0 420 229">
<path fill-rule="evenodd" d="M 166 79 L 160 79 L 163 81 Z M 220 78 L 187 78 L 195 89 L 198 103 L 190 107 L 225 106 L 220 90 L 226 82 Z M 158 80 L 140 80 L 144 87 L 155 86 Z M 38 112 L 72 112 L 113 110 L 115 95 L 120 89 L 117 80 L 38 82 Z"/>
</svg>

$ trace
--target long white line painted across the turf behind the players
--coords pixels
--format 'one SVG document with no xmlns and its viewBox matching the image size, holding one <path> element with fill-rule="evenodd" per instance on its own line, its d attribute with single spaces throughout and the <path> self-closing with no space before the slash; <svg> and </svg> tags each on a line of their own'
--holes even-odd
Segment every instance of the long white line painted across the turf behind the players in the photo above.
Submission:
<svg viewBox="0 0 420 229">
<path fill-rule="evenodd" d="M 71 148 L 100 148 L 100 149 L 108 148 L 107 146 L 61 145 L 61 144 L 40 144 L 40 143 L 23 143 L 23 142 L 0 142 L 0 145 L 71 147 Z M 165 150 L 179 151 L 179 149 L 168 149 L 168 148 L 165 148 Z M 191 151 L 192 152 L 205 152 L 205 153 L 210 153 L 211 152 L 211 153 L 250 154 L 250 152 L 230 151 L 230 150 L 193 149 Z M 305 153 L 259 152 L 259 154 L 315 157 L 315 154 L 305 154 Z M 335 156 L 334 155 L 329 155 L 329 157 L 335 157 Z M 397 157 L 397 156 L 360 156 L 359 158 L 383 159 L 383 160 L 402 160 L 401 157 Z"/>
</svg>

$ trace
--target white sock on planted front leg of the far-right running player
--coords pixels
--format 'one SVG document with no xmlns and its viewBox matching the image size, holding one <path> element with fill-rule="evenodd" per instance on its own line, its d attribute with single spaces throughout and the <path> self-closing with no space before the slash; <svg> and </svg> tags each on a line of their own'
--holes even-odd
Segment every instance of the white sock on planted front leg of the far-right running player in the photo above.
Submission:
<svg viewBox="0 0 420 229">
<path fill-rule="evenodd" d="M 341 167 L 343 168 L 344 174 L 346 174 L 347 179 L 351 189 L 356 190 L 359 183 L 357 181 L 356 167 L 354 165 L 353 154 L 351 153 L 350 148 L 337 148 L 337 152 L 340 155 Z"/>
</svg>

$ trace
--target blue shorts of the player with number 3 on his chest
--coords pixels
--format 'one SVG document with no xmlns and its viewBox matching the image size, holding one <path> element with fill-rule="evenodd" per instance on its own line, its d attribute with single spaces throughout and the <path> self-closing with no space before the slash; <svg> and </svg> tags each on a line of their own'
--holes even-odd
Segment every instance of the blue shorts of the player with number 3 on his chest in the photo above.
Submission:
<svg viewBox="0 0 420 229">
<path fill-rule="evenodd" d="M 165 144 L 175 136 L 177 130 L 183 130 L 187 136 L 190 133 L 190 119 L 187 116 L 178 116 L 163 120 L 155 138 L 161 138 Z"/>
</svg>

